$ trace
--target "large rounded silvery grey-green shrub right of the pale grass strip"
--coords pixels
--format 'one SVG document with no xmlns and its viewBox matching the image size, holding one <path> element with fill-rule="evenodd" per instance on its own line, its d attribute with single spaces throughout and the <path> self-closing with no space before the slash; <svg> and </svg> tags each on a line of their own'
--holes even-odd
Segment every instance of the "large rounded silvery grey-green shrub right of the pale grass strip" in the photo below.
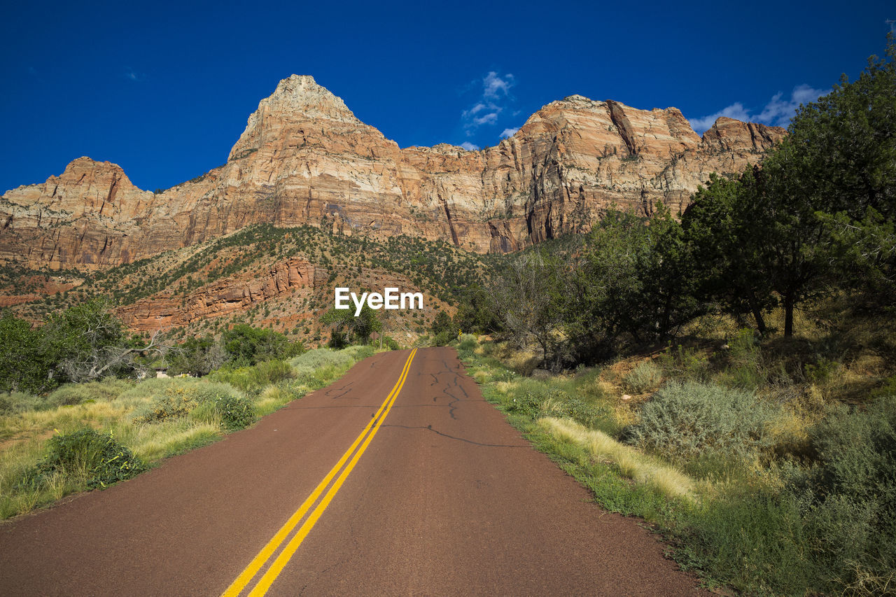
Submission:
<svg viewBox="0 0 896 597">
<path fill-rule="evenodd" d="M 707 451 L 746 458 L 771 446 L 767 427 L 778 412 L 746 390 L 672 382 L 644 403 L 641 420 L 626 435 L 682 460 Z"/>
</svg>

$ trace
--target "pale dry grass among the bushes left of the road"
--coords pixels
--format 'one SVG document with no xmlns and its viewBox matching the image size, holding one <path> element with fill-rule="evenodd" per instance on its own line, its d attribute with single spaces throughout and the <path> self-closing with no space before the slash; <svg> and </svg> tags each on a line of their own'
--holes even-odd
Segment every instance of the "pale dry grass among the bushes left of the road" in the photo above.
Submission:
<svg viewBox="0 0 896 597">
<path fill-rule="evenodd" d="M 311 354 L 297 367 L 297 372 L 307 379 L 267 385 L 252 400 L 255 413 L 264 416 L 304 396 L 314 387 L 329 384 L 369 353 L 372 350 L 366 347 L 352 347 L 340 352 L 325 350 L 316 355 L 320 362 L 306 362 L 315 357 Z M 64 391 L 58 391 L 60 395 L 81 393 L 90 398 L 80 404 L 0 416 L 0 438 L 3 439 L 0 443 L 0 519 L 29 512 L 87 488 L 86 479 L 73 475 L 50 477 L 37 489 L 20 485 L 25 473 L 44 457 L 47 438 L 55 433 L 68 434 L 85 427 L 111 432 L 117 441 L 128 446 L 147 464 L 211 443 L 224 433 L 220 413 L 212 402 L 200 401 L 185 416 L 165 420 L 141 422 L 137 415 L 150 409 L 159 396 L 167 392 L 208 392 L 216 386 L 223 387 L 224 384 L 177 378 L 153 378 L 136 385 L 104 380 L 63 386 Z M 230 386 L 223 389 L 242 395 Z"/>
</svg>

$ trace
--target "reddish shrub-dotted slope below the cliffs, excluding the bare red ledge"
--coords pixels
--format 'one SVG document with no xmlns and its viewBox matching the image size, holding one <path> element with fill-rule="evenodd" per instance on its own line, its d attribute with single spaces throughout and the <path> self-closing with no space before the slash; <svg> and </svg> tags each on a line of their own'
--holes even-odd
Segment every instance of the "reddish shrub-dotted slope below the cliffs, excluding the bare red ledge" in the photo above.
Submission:
<svg viewBox="0 0 896 597">
<path fill-rule="evenodd" d="M 323 345 L 332 330 L 321 316 L 332 307 L 334 287 L 382 292 L 383 282 L 391 281 L 402 290 L 421 290 L 427 297 L 423 310 L 392 311 L 388 316 L 380 313 L 384 333 L 407 343 L 426 333 L 439 310 L 452 311 L 466 290 L 480 281 L 484 264 L 492 259 L 461 251 L 444 241 L 405 236 L 376 240 L 333 234 L 312 226 L 257 225 L 97 273 L 3 268 L 0 290 L 12 295 L 29 290 L 39 297 L 54 286 L 68 289 L 43 298 L 26 296 L 30 300 L 13 307 L 16 315 L 31 322 L 97 296 L 107 297 L 116 307 L 141 299 L 174 298 L 186 311 L 191 292 L 230 277 L 246 284 L 292 257 L 314 265 L 313 288 L 267 299 L 228 316 L 195 318 L 167 332 L 182 341 L 208 334 L 217 337 L 233 325 L 252 324 L 288 334 L 306 345 Z"/>
</svg>

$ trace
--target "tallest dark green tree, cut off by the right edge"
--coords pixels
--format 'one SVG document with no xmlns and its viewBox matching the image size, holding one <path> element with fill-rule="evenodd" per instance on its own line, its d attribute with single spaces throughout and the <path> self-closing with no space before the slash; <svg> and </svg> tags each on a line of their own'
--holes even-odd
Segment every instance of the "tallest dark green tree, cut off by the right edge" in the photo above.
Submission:
<svg viewBox="0 0 896 597">
<path fill-rule="evenodd" d="M 802 107 L 771 162 L 779 186 L 814 210 L 824 228 L 828 268 L 875 302 L 896 295 L 896 43 L 868 59 L 857 80 Z M 777 190 L 777 189 L 776 189 Z M 828 248 L 828 247 L 825 247 Z"/>
</svg>

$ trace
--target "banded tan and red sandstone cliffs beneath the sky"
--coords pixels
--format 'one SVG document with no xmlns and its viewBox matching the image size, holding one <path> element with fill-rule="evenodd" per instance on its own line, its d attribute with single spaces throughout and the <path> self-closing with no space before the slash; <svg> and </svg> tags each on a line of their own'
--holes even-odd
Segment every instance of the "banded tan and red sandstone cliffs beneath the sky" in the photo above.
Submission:
<svg viewBox="0 0 896 597">
<path fill-rule="evenodd" d="M 508 252 L 586 231 L 612 203 L 679 211 L 711 172 L 743 171 L 784 134 L 719 118 L 700 137 L 676 108 L 572 96 L 495 147 L 401 149 L 313 78 L 292 75 L 249 117 L 226 165 L 164 193 L 88 158 L 8 191 L 0 261 L 101 269 L 262 222 Z"/>
</svg>

